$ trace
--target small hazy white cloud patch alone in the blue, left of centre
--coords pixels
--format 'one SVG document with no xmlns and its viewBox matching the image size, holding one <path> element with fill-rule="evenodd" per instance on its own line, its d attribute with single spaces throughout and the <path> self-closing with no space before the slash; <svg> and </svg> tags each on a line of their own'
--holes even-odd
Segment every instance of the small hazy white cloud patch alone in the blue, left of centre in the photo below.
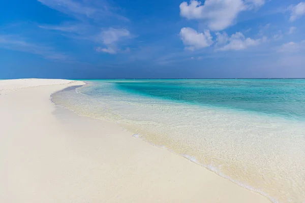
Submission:
<svg viewBox="0 0 305 203">
<path fill-rule="evenodd" d="M 115 54 L 121 51 L 117 47 L 117 42 L 130 38 L 132 38 L 130 31 L 124 28 L 115 29 L 110 27 L 108 29 L 102 30 L 95 40 L 97 42 L 103 43 L 106 47 L 98 47 L 96 48 L 96 51 Z"/>
</svg>

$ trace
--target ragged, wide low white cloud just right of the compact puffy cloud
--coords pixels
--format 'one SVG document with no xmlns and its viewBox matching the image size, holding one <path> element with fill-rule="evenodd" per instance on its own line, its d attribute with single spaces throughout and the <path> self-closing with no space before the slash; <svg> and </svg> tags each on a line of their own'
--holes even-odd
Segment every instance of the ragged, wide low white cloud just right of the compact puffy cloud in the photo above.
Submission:
<svg viewBox="0 0 305 203">
<path fill-rule="evenodd" d="M 245 38 L 241 32 L 236 32 L 231 37 L 228 37 L 226 33 L 217 33 L 217 47 L 216 50 L 227 51 L 227 50 L 243 50 L 251 46 L 257 46 L 264 42 L 265 38 L 262 39 L 251 39 Z"/>
</svg>

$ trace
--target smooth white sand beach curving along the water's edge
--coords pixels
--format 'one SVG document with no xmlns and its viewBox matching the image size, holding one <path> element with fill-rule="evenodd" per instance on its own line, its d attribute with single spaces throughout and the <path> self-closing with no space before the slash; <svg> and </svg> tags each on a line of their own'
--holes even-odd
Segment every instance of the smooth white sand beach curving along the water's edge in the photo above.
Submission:
<svg viewBox="0 0 305 203">
<path fill-rule="evenodd" d="M 81 81 L 0 81 L 0 202 L 270 202 L 115 123 L 55 106 Z"/>
</svg>

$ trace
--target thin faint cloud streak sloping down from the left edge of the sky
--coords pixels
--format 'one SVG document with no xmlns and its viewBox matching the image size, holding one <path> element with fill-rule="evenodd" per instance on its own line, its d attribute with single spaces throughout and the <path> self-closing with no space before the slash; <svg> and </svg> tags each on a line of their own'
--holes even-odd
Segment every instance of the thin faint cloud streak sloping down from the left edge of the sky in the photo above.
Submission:
<svg viewBox="0 0 305 203">
<path fill-rule="evenodd" d="M 0 47 L 40 55 L 47 59 L 70 60 L 65 53 L 56 52 L 51 47 L 25 42 L 16 36 L 0 35 Z"/>
</svg>

